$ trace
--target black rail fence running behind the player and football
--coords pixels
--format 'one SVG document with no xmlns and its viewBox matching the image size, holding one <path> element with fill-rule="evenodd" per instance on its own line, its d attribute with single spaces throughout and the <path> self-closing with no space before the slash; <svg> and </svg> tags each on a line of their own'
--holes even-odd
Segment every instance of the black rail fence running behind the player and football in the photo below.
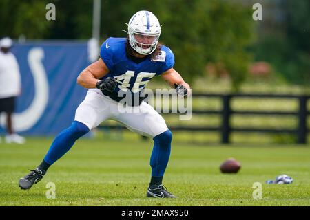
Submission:
<svg viewBox="0 0 310 220">
<path fill-rule="evenodd" d="M 174 131 L 218 131 L 221 133 L 221 142 L 228 144 L 230 135 L 234 131 L 238 132 L 256 132 L 256 133 L 287 133 L 296 135 L 298 144 L 307 143 L 307 116 L 310 112 L 307 109 L 307 100 L 310 96 L 297 96 L 289 94 L 193 94 L 193 100 L 198 97 L 220 98 L 222 100 L 222 109 L 219 111 L 195 110 L 193 115 L 220 115 L 221 125 L 218 127 L 203 126 L 169 126 Z M 299 103 L 298 111 L 234 111 L 231 109 L 231 100 L 234 98 L 275 98 L 275 99 L 296 99 Z M 293 115 L 298 118 L 296 129 L 270 129 L 270 128 L 253 128 L 253 127 L 234 127 L 231 126 L 232 115 Z M 108 129 L 120 129 L 120 126 L 103 126 Z"/>
</svg>

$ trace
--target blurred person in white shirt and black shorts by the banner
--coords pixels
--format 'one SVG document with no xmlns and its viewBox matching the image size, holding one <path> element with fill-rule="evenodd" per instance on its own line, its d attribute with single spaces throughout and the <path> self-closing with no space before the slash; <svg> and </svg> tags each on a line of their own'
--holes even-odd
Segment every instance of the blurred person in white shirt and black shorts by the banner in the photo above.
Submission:
<svg viewBox="0 0 310 220">
<path fill-rule="evenodd" d="M 0 40 L 0 113 L 6 113 L 7 143 L 25 143 L 25 138 L 14 133 L 12 113 L 15 110 L 15 100 L 21 94 L 21 75 L 17 60 L 10 52 L 12 39 L 5 37 Z M 1 137 L 0 137 L 1 142 Z"/>
</svg>

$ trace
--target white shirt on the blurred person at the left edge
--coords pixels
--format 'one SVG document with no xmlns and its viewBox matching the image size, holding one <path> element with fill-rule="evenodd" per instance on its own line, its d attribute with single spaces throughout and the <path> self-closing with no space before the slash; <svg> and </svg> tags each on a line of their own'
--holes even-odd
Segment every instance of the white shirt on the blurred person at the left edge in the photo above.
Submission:
<svg viewBox="0 0 310 220">
<path fill-rule="evenodd" d="M 0 51 L 0 98 L 19 96 L 21 93 L 21 75 L 19 64 L 11 53 Z"/>
</svg>

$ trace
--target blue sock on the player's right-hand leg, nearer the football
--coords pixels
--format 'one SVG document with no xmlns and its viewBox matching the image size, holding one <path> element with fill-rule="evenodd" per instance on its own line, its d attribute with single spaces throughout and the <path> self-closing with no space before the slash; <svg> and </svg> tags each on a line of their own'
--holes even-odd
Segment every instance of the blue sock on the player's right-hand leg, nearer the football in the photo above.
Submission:
<svg viewBox="0 0 310 220">
<path fill-rule="evenodd" d="M 156 179 L 154 177 L 163 177 L 165 173 L 171 152 L 172 133 L 170 130 L 167 130 L 154 137 L 153 140 L 154 147 L 151 155 L 150 165 L 152 167 L 152 179 Z"/>
</svg>

